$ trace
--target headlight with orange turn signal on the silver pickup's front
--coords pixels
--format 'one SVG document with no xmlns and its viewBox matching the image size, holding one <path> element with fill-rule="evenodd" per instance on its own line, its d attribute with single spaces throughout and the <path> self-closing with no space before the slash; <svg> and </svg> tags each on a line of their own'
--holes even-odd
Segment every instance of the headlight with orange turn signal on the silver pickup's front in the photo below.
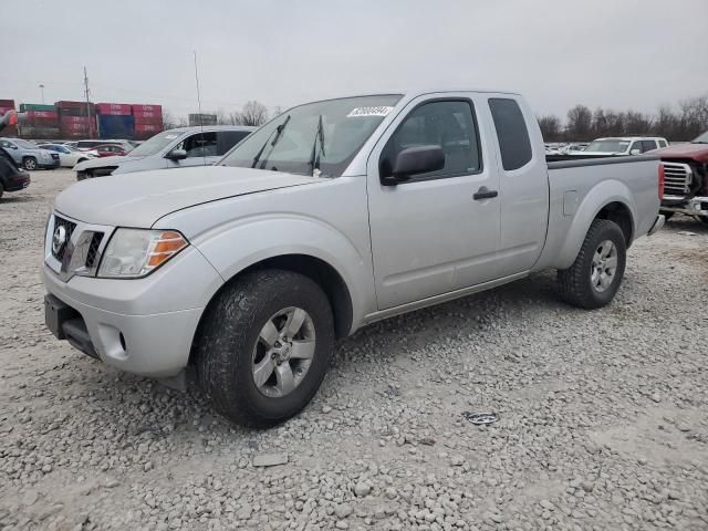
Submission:
<svg viewBox="0 0 708 531">
<path fill-rule="evenodd" d="M 176 230 L 116 229 L 103 252 L 98 277 L 145 277 L 188 244 Z"/>
</svg>

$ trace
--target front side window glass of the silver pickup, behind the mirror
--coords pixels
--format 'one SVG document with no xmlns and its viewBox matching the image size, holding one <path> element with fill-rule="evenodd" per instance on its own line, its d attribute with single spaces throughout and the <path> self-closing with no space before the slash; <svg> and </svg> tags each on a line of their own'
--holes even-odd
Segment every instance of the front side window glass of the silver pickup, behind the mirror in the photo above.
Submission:
<svg viewBox="0 0 708 531">
<path fill-rule="evenodd" d="M 382 152 L 381 173 L 391 170 L 400 152 L 416 146 L 440 146 L 445 167 L 416 175 L 413 179 L 438 179 L 478 173 L 481 169 L 479 137 L 469 101 L 425 103 L 398 126 Z"/>
</svg>

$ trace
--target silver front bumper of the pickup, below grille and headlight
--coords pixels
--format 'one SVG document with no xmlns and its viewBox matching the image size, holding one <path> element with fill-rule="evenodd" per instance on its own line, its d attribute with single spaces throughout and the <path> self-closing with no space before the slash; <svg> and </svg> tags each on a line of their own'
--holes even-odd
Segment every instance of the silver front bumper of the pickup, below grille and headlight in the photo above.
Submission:
<svg viewBox="0 0 708 531">
<path fill-rule="evenodd" d="M 44 264 L 42 280 L 48 326 L 56 314 L 46 304 L 67 306 L 61 322 L 49 326 L 59 339 L 121 371 L 156 378 L 187 366 L 204 309 L 222 283 L 195 249 L 144 279 L 73 277 L 64 282 Z"/>
</svg>

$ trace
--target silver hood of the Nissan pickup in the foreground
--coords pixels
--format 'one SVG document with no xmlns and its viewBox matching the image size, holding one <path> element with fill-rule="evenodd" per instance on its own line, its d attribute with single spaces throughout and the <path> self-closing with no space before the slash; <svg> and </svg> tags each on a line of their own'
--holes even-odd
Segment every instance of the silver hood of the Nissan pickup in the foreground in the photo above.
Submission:
<svg viewBox="0 0 708 531">
<path fill-rule="evenodd" d="M 323 180 L 225 166 L 160 169 L 82 180 L 56 196 L 54 209 L 86 223 L 149 228 L 184 208 Z"/>
</svg>

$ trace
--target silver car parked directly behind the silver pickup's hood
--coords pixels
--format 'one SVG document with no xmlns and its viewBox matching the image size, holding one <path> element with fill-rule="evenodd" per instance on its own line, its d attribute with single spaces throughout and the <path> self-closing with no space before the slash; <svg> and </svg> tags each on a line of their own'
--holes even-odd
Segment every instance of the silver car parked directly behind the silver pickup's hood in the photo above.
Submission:
<svg viewBox="0 0 708 531">
<path fill-rule="evenodd" d="M 256 127 L 180 127 L 158 133 L 126 156 L 86 160 L 74 167 L 76 179 L 148 169 L 211 166 Z"/>
</svg>

